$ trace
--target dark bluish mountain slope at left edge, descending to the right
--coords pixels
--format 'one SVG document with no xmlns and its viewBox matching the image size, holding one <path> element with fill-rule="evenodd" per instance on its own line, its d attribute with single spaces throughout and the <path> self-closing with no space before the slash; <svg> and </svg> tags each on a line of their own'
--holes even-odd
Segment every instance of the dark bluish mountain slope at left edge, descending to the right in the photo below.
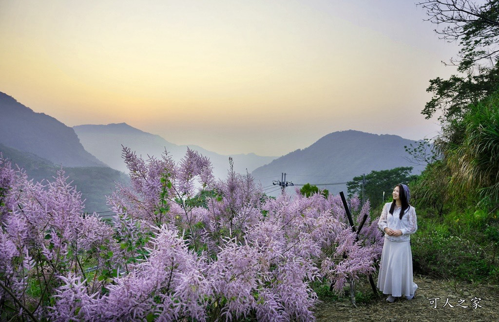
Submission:
<svg viewBox="0 0 499 322">
<path fill-rule="evenodd" d="M 0 143 L 63 166 L 107 166 L 85 151 L 73 129 L 2 92 Z"/>
</svg>

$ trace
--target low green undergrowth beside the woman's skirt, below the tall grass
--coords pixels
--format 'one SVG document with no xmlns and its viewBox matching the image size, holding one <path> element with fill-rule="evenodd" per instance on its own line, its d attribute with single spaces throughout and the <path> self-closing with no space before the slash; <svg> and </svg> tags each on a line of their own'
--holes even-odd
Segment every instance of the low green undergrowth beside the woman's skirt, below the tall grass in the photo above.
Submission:
<svg viewBox="0 0 499 322">
<path fill-rule="evenodd" d="M 418 231 L 411 239 L 414 271 L 441 278 L 499 281 L 499 230 L 491 216 L 470 209 L 449 212 L 443 219 L 418 216 Z"/>
</svg>

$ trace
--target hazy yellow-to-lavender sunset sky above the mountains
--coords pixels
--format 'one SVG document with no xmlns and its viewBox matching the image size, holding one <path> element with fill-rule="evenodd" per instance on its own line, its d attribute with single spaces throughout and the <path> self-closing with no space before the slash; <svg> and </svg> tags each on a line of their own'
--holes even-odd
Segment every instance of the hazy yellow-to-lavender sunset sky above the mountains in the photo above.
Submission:
<svg viewBox="0 0 499 322">
<path fill-rule="evenodd" d="M 432 138 L 426 88 L 458 46 L 425 17 L 410 0 L 0 0 L 0 91 L 221 154 L 347 129 Z"/>
</svg>

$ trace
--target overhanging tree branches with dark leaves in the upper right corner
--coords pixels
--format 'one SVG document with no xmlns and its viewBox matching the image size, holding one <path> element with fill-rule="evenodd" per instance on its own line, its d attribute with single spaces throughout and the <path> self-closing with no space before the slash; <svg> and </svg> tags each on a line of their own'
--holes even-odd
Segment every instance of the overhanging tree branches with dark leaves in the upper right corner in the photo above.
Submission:
<svg viewBox="0 0 499 322">
<path fill-rule="evenodd" d="M 422 111 L 427 119 L 440 114 L 439 120 L 450 124 L 460 119 L 470 104 L 498 89 L 499 0 L 482 5 L 470 0 L 428 0 L 418 5 L 427 10 L 428 20 L 437 25 L 435 31 L 441 38 L 460 44 L 458 57 L 448 64 L 457 66 L 461 75 L 430 80 L 427 92 L 433 96 Z M 453 127 L 446 130 L 452 137 Z"/>
</svg>

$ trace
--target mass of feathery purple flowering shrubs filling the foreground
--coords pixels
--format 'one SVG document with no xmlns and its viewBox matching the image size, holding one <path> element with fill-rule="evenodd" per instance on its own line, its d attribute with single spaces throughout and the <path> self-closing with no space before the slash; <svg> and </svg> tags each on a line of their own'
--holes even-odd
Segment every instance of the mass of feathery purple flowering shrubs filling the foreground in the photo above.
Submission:
<svg viewBox="0 0 499 322">
<path fill-rule="evenodd" d="M 0 157 L 1 319 L 313 321 L 312 281 L 339 293 L 381 255 L 377 221 L 357 239 L 339 196 L 267 198 L 232 159 L 215 180 L 193 150 L 123 158 L 131 183 L 108 197 L 109 224 L 83 214 L 63 170 L 33 183 Z M 369 203 L 350 203 L 359 224 Z"/>
</svg>

